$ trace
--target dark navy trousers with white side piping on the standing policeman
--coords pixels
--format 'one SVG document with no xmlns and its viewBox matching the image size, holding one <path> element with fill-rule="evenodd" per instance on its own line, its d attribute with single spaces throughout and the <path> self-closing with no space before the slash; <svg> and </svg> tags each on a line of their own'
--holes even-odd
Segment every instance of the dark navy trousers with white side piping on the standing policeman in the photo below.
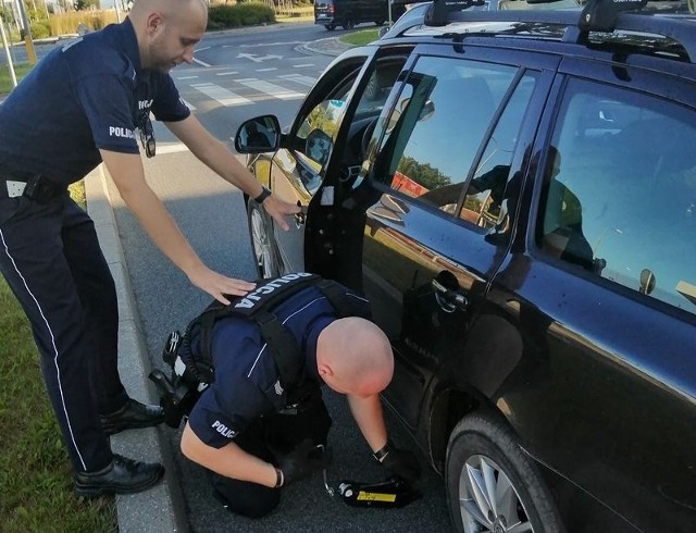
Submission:
<svg viewBox="0 0 696 533">
<path fill-rule="evenodd" d="M 112 460 L 99 414 L 127 394 L 117 370 L 113 277 L 87 213 L 63 193 L 0 198 L 0 271 L 32 324 L 50 401 L 76 471 Z"/>
</svg>

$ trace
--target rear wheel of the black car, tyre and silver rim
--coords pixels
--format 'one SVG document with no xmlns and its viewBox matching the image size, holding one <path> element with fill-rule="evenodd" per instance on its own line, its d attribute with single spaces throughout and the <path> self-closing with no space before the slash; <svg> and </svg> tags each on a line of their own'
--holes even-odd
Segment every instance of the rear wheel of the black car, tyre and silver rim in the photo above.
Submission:
<svg viewBox="0 0 696 533">
<path fill-rule="evenodd" d="M 459 532 L 563 531 L 534 463 L 513 433 L 493 417 L 470 414 L 455 426 L 445 479 Z"/>
</svg>

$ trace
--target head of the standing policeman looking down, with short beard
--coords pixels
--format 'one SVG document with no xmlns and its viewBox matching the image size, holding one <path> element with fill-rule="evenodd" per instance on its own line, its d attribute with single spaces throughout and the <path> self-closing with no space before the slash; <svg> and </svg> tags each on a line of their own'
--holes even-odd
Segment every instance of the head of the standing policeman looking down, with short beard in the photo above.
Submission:
<svg viewBox="0 0 696 533">
<path fill-rule="evenodd" d="M 194 60 L 208 25 L 204 0 L 136 0 L 128 13 L 144 69 L 169 72 Z"/>
</svg>

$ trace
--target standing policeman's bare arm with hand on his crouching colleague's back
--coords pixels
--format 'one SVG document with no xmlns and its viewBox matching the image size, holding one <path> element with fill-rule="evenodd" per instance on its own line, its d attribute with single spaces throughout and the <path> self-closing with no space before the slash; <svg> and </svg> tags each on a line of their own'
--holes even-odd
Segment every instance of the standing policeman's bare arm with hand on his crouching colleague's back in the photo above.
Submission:
<svg viewBox="0 0 696 533">
<path fill-rule="evenodd" d="M 210 270 L 190 247 L 174 219 L 145 181 L 140 156 L 100 150 L 119 194 L 154 245 L 184 272 L 190 282 L 228 303 L 223 294 L 244 295 L 253 284 L 229 278 Z"/>
</svg>

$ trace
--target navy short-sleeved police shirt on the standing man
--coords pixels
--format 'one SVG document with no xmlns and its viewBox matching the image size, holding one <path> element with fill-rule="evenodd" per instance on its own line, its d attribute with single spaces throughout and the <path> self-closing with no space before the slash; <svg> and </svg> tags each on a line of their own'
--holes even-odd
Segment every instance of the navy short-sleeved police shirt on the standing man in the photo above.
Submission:
<svg viewBox="0 0 696 533">
<path fill-rule="evenodd" d="M 182 121 L 190 111 L 169 74 L 144 70 L 129 20 L 58 46 L 0 106 L 2 172 L 77 182 L 99 149 L 138 153 L 140 113 Z"/>
</svg>

